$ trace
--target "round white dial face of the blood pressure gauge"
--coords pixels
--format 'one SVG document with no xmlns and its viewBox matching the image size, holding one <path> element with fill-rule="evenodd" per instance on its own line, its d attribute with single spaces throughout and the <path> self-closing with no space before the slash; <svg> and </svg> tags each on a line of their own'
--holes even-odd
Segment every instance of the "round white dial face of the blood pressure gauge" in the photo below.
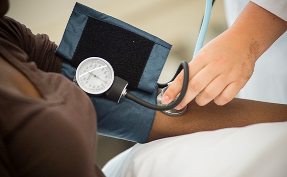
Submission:
<svg viewBox="0 0 287 177">
<path fill-rule="evenodd" d="M 112 86 L 114 70 L 103 58 L 90 57 L 79 64 L 76 80 L 79 87 L 85 92 L 102 94 Z"/>
</svg>

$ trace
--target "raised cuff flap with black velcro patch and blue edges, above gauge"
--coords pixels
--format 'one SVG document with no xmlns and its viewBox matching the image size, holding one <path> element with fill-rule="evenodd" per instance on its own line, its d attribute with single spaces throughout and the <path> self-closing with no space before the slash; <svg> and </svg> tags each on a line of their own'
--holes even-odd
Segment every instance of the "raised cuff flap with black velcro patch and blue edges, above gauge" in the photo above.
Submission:
<svg viewBox="0 0 287 177">
<path fill-rule="evenodd" d="M 76 3 L 56 54 L 73 67 L 91 56 L 107 60 L 129 88 L 152 93 L 171 45 L 116 18 Z"/>
</svg>

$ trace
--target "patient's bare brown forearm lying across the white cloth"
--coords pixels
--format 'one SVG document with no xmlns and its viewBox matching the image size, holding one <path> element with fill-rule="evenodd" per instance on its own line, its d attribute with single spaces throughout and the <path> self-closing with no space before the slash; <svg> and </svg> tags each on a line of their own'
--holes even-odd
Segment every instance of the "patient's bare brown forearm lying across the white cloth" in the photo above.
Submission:
<svg viewBox="0 0 287 177">
<path fill-rule="evenodd" d="M 157 111 L 148 142 L 198 131 L 283 121 L 287 121 L 287 105 L 233 99 L 224 106 L 211 102 L 201 107 L 193 100 L 180 116 Z"/>
</svg>

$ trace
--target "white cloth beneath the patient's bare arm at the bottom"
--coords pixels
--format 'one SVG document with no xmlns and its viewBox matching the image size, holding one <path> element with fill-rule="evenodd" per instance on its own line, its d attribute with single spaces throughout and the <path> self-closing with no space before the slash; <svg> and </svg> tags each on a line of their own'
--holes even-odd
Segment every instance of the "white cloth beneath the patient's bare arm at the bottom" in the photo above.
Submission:
<svg viewBox="0 0 287 177">
<path fill-rule="evenodd" d="M 134 147 L 103 168 L 115 176 L 287 176 L 287 122 L 169 137 Z"/>
</svg>

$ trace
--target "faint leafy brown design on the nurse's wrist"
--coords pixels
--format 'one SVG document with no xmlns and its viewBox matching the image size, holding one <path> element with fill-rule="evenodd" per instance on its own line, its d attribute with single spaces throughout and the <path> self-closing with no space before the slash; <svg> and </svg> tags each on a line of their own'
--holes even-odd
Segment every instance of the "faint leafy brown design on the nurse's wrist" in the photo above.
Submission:
<svg viewBox="0 0 287 177">
<path fill-rule="evenodd" d="M 242 63 L 242 73 L 245 80 L 250 79 L 254 71 L 255 61 L 257 60 L 259 53 L 259 44 L 257 41 L 254 41 L 254 38 L 252 38 L 252 40 L 253 42 L 250 44 L 249 53 L 247 54 L 248 60 Z"/>
</svg>

